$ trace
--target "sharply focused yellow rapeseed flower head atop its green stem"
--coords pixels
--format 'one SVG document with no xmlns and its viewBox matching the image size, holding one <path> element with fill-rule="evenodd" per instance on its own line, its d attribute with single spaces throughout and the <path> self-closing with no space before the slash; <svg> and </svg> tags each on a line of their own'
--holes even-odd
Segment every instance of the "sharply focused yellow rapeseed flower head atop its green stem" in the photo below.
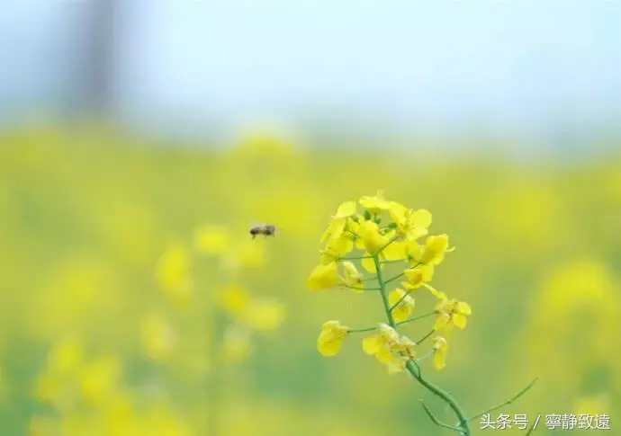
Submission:
<svg viewBox="0 0 621 436">
<path fill-rule="evenodd" d="M 466 326 L 472 310 L 464 301 L 448 298 L 429 284 L 437 265 L 455 249 L 449 245 L 448 236 L 428 235 L 431 222 L 428 210 L 408 209 L 396 201 L 385 200 L 381 191 L 338 207 L 321 237 L 324 246 L 320 264 L 311 272 L 308 285 L 314 290 L 378 292 L 387 324 L 352 329 L 339 321 L 329 321 L 323 325 L 317 341 L 322 355 L 336 355 L 350 334 L 374 332 L 363 340 L 363 350 L 386 365 L 390 373 L 403 371 L 410 361 L 418 365 L 419 360 L 428 356 L 433 356 L 437 369 L 445 368 L 446 337 L 454 326 Z M 398 280 L 399 285 L 393 285 Z M 413 294 L 419 289 L 428 289 L 436 304 L 433 311 L 415 316 Z M 400 325 L 431 316 L 436 317 L 436 322 L 419 341 L 399 334 Z M 431 350 L 417 360 L 420 344 L 434 334 Z"/>
</svg>

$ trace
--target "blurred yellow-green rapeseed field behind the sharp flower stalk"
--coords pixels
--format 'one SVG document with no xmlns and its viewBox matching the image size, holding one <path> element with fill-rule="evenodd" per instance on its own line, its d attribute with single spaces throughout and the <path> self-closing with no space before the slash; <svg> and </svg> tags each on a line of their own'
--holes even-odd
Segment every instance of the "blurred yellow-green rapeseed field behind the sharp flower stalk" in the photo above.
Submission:
<svg viewBox="0 0 621 436">
<path fill-rule="evenodd" d="M 447 434 L 418 400 L 449 411 L 404 375 L 387 376 L 358 341 L 333 359 L 315 349 L 328 319 L 382 320 L 373 293 L 306 289 L 330 214 L 378 189 L 429 209 L 431 232 L 457 246 L 434 285 L 473 316 L 446 369 L 429 377 L 474 414 L 539 374 L 503 413 L 610 414 L 617 434 L 618 157 L 525 164 L 309 151 L 267 137 L 204 151 L 93 129 L 4 132 L 0 434 Z M 255 222 L 283 232 L 249 241 Z M 214 246 L 229 262 L 195 249 L 206 225 L 227 228 Z M 166 253 L 168 276 L 158 272 Z M 228 359 L 235 332 L 214 304 L 231 284 L 284 305 L 280 328 L 252 321 L 260 332 L 247 359 Z"/>
</svg>

